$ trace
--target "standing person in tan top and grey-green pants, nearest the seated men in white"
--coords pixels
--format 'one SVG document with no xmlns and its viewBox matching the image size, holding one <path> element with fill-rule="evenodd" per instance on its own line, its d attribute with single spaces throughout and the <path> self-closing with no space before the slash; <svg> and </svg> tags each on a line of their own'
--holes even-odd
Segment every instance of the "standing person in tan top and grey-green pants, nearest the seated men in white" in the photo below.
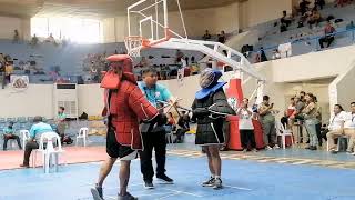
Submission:
<svg viewBox="0 0 355 200">
<path fill-rule="evenodd" d="M 307 93 L 305 96 L 306 99 L 306 107 L 303 109 L 303 114 L 305 119 L 305 126 L 307 132 L 310 134 L 310 146 L 306 149 L 310 150 L 317 150 L 318 138 L 317 138 L 317 104 L 314 101 L 314 96 L 312 93 Z"/>
</svg>

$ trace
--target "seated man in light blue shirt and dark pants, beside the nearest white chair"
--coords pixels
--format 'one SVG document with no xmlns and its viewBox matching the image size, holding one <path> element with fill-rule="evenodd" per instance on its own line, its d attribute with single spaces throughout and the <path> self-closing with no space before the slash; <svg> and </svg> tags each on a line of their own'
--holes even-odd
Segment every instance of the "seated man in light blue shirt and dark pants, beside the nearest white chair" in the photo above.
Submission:
<svg viewBox="0 0 355 200">
<path fill-rule="evenodd" d="M 30 129 L 30 138 L 24 147 L 23 162 L 20 164 L 20 167 L 30 167 L 30 156 L 33 149 L 39 148 L 38 141 L 40 140 L 41 133 L 52 131 L 53 129 L 50 124 L 42 122 L 42 117 L 34 117 L 33 126 Z"/>
</svg>

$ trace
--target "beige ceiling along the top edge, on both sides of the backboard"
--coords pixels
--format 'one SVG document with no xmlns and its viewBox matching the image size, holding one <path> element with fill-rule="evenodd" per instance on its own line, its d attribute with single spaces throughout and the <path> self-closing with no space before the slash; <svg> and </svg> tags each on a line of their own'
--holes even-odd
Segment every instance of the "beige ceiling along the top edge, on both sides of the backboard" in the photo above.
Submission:
<svg viewBox="0 0 355 200">
<path fill-rule="evenodd" d="M 68 16 L 109 18 L 125 14 L 126 7 L 138 0 L 0 0 L 0 16 L 33 17 Z M 170 10 L 176 10 L 175 0 L 169 0 Z M 180 0 L 183 10 L 227 6 L 246 0 Z"/>
</svg>

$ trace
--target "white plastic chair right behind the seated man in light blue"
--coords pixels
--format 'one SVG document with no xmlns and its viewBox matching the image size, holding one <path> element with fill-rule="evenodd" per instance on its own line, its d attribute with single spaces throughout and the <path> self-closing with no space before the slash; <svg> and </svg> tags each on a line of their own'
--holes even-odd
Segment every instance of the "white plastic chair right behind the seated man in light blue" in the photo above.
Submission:
<svg viewBox="0 0 355 200">
<path fill-rule="evenodd" d="M 47 142 L 47 147 L 44 149 L 44 142 Z M 58 146 L 54 148 L 54 143 Z M 60 142 L 60 137 L 57 132 L 44 132 L 41 134 L 39 149 L 33 152 L 33 167 L 36 167 L 37 161 L 37 152 L 42 152 L 42 162 L 44 173 L 49 173 L 50 171 L 50 162 L 54 164 L 55 172 L 58 171 L 59 164 L 59 153 L 63 153 L 62 144 Z"/>
</svg>

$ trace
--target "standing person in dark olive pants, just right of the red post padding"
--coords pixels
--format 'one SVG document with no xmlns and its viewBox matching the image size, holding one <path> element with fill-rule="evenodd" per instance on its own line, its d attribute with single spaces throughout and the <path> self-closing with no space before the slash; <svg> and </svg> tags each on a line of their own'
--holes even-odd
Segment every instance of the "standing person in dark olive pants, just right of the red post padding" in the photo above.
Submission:
<svg viewBox="0 0 355 200">
<path fill-rule="evenodd" d="M 270 97 L 264 96 L 263 102 L 258 107 L 258 114 L 261 117 L 261 123 L 264 132 L 264 143 L 267 150 L 271 150 L 272 147 L 280 148 L 276 143 L 276 130 L 275 130 L 275 117 L 272 113 L 274 110 L 274 103 L 270 103 Z"/>
</svg>

